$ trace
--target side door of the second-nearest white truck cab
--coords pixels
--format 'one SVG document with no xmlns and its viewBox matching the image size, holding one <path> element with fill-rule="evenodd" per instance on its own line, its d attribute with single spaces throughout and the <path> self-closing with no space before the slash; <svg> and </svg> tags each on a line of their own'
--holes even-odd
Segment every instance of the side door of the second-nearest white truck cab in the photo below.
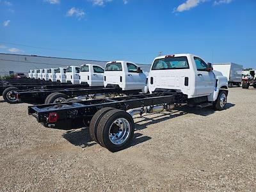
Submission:
<svg viewBox="0 0 256 192">
<path fill-rule="evenodd" d="M 126 83 L 129 90 L 143 89 L 145 86 L 145 74 L 138 73 L 138 67 L 136 65 L 127 63 Z"/>
</svg>

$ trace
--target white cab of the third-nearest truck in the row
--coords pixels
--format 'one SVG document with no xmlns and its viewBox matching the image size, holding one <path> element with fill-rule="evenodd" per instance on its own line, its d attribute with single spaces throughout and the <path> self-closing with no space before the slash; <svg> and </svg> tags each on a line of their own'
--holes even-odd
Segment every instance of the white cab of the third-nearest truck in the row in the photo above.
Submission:
<svg viewBox="0 0 256 192">
<path fill-rule="evenodd" d="M 89 86 L 103 86 L 104 69 L 99 65 L 85 64 L 80 67 L 80 84 Z"/>
</svg>

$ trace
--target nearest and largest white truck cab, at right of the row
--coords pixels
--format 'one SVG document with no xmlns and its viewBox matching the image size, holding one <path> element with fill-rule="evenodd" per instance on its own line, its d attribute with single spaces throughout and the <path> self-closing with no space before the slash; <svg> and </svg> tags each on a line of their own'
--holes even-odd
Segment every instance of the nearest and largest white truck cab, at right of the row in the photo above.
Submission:
<svg viewBox="0 0 256 192">
<path fill-rule="evenodd" d="M 155 58 L 148 76 L 148 90 L 176 90 L 188 99 L 204 97 L 214 101 L 221 88 L 227 89 L 227 77 L 214 74 L 211 63 L 193 54 L 172 54 Z"/>
</svg>

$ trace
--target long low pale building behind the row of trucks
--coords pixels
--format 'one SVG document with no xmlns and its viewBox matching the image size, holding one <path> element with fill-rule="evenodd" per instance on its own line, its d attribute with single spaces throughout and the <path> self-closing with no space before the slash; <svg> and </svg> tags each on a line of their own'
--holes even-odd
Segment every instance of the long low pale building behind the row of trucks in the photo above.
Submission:
<svg viewBox="0 0 256 192">
<path fill-rule="evenodd" d="M 97 64 L 105 67 L 107 62 L 108 61 L 79 60 L 70 58 L 0 53 L 0 76 L 9 76 L 12 74 L 12 72 L 28 74 L 30 69 L 58 68 L 67 67 L 68 65 L 80 66 L 86 63 Z M 150 65 L 138 65 L 143 71 L 149 72 Z"/>
</svg>

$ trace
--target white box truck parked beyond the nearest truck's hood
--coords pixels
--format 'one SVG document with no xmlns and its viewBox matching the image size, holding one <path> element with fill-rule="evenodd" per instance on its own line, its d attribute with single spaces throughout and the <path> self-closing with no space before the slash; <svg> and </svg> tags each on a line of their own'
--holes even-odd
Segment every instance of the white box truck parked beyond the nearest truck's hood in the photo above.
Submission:
<svg viewBox="0 0 256 192">
<path fill-rule="evenodd" d="M 236 63 L 214 63 L 213 69 L 220 71 L 228 78 L 228 86 L 241 86 L 243 65 Z"/>
</svg>

